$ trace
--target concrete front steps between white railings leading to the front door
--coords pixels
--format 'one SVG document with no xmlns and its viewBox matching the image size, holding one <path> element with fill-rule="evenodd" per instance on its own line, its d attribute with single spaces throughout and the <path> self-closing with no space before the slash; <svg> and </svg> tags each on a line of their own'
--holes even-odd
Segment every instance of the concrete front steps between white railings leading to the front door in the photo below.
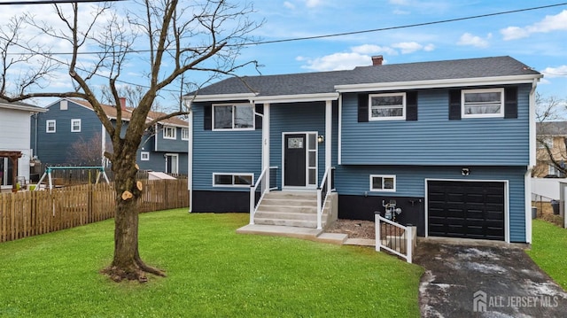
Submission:
<svg viewBox="0 0 567 318">
<path fill-rule="evenodd" d="M 328 198 L 322 213 L 323 229 L 332 222 L 330 201 Z M 254 224 L 317 229 L 317 193 L 315 191 L 269 192 L 258 206 L 254 215 Z"/>
</svg>

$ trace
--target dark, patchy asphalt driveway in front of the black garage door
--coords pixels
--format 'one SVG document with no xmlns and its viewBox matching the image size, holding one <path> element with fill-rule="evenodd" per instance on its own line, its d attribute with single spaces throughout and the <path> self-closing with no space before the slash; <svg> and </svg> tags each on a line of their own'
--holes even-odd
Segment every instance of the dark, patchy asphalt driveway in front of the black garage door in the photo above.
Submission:
<svg viewBox="0 0 567 318">
<path fill-rule="evenodd" d="M 521 248 L 420 242 L 414 262 L 423 317 L 567 317 L 567 292 Z"/>
</svg>

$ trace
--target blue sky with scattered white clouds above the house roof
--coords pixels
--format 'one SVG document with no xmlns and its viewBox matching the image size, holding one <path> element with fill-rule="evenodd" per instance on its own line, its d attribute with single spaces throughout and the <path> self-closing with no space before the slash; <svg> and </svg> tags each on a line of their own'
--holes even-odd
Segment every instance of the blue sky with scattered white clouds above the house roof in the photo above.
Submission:
<svg viewBox="0 0 567 318">
<path fill-rule="evenodd" d="M 245 47 L 239 61 L 258 61 L 260 74 L 353 69 L 369 66 L 374 55 L 383 55 L 384 64 L 511 56 L 544 74 L 538 86 L 541 95 L 567 98 L 567 3 L 540 10 L 404 27 L 562 4 L 560 0 L 256 0 L 252 4 L 255 12 L 250 18 L 264 21 L 252 35 L 263 42 L 395 27 Z M 0 20 L 24 10 L 41 15 L 44 6 L 4 5 L 0 7 Z M 131 67 L 136 69 L 136 65 Z M 257 74 L 252 66 L 238 73 Z M 136 74 L 133 72 L 126 80 L 136 82 Z M 53 85 L 68 89 L 71 84 L 62 80 L 53 81 Z M 40 101 L 39 105 L 49 103 Z"/>
</svg>

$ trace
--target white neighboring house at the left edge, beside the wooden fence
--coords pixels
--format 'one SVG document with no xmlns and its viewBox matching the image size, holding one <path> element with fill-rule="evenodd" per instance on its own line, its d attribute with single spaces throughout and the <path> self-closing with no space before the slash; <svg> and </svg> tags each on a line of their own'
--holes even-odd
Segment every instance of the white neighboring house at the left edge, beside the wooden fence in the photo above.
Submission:
<svg viewBox="0 0 567 318">
<path fill-rule="evenodd" d="M 37 112 L 47 112 L 35 105 L 10 103 L 0 98 L 0 188 L 14 189 L 13 176 L 23 176 L 29 180 L 30 116 Z M 17 165 L 14 163 L 17 162 Z M 17 169 L 14 169 L 14 166 Z"/>
</svg>

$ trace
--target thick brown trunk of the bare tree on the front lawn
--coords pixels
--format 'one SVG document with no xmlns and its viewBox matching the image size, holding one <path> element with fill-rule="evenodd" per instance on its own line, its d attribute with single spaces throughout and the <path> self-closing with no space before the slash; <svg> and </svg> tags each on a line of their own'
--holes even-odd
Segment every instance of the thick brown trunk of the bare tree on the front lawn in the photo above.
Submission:
<svg viewBox="0 0 567 318">
<path fill-rule="evenodd" d="M 136 154 L 136 150 L 134 152 Z M 129 156 L 128 156 L 129 157 Z M 134 157 L 136 158 L 136 157 Z M 114 213 L 114 258 L 110 267 L 103 269 L 113 281 L 123 279 L 147 282 L 146 273 L 165 276 L 158 268 L 144 264 L 138 252 L 138 199 L 140 190 L 136 188 L 136 168 L 128 160 L 113 163 L 116 210 Z M 128 165 L 129 167 L 125 167 Z M 131 196 L 124 196 L 128 192 Z"/>
</svg>

